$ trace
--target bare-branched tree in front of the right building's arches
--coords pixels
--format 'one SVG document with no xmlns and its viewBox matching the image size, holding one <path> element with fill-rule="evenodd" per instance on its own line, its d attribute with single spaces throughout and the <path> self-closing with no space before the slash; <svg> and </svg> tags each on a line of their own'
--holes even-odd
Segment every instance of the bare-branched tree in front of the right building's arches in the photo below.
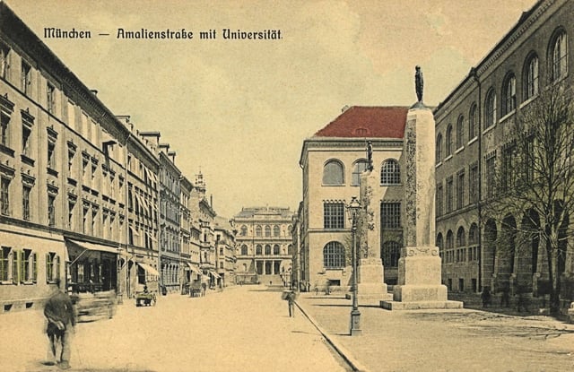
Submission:
<svg viewBox="0 0 574 372">
<path fill-rule="evenodd" d="M 507 125 L 505 123 L 504 125 Z M 544 247 L 550 281 L 550 311 L 560 311 L 561 273 L 565 269 L 570 216 L 574 212 L 574 99 L 570 88 L 552 83 L 508 123 L 500 166 L 488 183 L 494 191 L 486 214 L 500 221 L 497 246 L 514 264 L 525 241 Z M 507 136 L 508 134 L 508 136 Z M 521 221 L 512 218 L 520 216 Z M 536 243 L 538 244 L 538 243 Z M 512 252 L 508 252 L 508 248 Z M 534 255 L 533 255 L 534 256 Z M 533 257 L 533 264 L 536 263 Z"/>
</svg>

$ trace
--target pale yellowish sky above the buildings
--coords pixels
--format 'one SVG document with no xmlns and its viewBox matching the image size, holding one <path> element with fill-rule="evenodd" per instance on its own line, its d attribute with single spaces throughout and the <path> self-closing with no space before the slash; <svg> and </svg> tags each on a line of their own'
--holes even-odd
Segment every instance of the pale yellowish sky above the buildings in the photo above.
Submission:
<svg viewBox="0 0 574 372">
<path fill-rule="evenodd" d="M 303 141 L 348 106 L 410 106 L 414 66 L 437 105 L 535 0 L 6 0 L 116 115 L 158 130 L 215 211 L 302 198 Z M 44 28 L 92 39 L 44 39 Z M 117 29 L 194 31 L 191 40 L 117 39 Z M 226 40 L 222 29 L 281 30 Z M 199 31 L 216 30 L 216 39 Z M 97 36 L 108 32 L 109 37 Z"/>
</svg>

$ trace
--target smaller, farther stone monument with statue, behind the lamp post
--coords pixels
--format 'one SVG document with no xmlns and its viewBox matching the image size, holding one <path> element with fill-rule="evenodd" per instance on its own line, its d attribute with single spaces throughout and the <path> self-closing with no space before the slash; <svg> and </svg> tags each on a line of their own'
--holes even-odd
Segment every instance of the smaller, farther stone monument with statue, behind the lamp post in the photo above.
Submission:
<svg viewBox="0 0 574 372">
<path fill-rule="evenodd" d="M 378 305 L 387 299 L 387 284 L 384 282 L 383 262 L 380 257 L 380 219 L 371 205 L 373 189 L 380 184 L 373 173 L 372 143 L 367 143 L 367 169 L 361 174 L 361 212 L 357 226 L 359 242 L 357 265 L 357 298 L 361 305 Z M 390 298 L 388 298 L 390 299 Z"/>
</svg>

